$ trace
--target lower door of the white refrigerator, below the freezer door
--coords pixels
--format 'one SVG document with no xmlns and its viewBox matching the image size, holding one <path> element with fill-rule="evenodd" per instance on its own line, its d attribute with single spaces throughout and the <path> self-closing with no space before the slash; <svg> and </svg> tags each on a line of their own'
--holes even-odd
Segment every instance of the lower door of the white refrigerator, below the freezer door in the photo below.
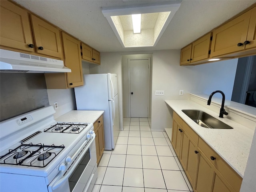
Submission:
<svg viewBox="0 0 256 192">
<path fill-rule="evenodd" d="M 109 101 L 109 110 L 110 110 L 110 126 L 111 129 L 111 136 L 112 136 L 112 148 L 115 148 L 116 140 L 118 138 L 118 134 L 120 131 L 119 128 L 119 110 L 118 110 L 118 95 L 114 97 L 113 100 Z M 112 114 L 112 115 L 111 115 Z"/>
</svg>

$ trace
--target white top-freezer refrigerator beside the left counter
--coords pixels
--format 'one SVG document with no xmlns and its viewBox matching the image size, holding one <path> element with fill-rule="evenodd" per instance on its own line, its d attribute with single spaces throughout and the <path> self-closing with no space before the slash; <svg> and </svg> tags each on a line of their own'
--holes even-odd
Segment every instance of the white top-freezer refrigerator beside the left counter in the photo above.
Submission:
<svg viewBox="0 0 256 192">
<path fill-rule="evenodd" d="M 84 86 L 75 88 L 77 110 L 104 110 L 105 150 L 112 150 L 120 131 L 117 74 L 84 75 Z"/>
</svg>

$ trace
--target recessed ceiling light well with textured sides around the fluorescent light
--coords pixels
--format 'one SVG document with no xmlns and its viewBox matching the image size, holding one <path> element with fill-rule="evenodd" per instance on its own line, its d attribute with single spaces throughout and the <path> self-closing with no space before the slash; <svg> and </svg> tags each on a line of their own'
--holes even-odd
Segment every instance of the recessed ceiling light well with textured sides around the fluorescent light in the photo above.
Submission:
<svg viewBox="0 0 256 192">
<path fill-rule="evenodd" d="M 102 10 L 122 47 L 156 46 L 180 4 Z M 141 33 L 134 34 L 131 14 L 142 14 Z"/>
</svg>

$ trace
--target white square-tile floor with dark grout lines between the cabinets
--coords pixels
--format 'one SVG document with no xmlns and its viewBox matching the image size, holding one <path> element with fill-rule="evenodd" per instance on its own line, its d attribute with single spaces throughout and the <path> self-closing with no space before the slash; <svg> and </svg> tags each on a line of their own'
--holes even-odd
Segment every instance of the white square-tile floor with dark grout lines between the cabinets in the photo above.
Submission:
<svg viewBox="0 0 256 192">
<path fill-rule="evenodd" d="M 116 147 L 104 151 L 93 192 L 190 192 L 166 132 L 148 118 L 124 118 Z"/>
</svg>

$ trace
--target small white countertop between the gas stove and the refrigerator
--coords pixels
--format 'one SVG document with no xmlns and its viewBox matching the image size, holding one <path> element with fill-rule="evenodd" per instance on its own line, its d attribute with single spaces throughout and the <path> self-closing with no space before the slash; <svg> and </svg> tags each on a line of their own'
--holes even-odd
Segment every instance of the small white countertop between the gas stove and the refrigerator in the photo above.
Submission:
<svg viewBox="0 0 256 192">
<path fill-rule="evenodd" d="M 56 118 L 58 122 L 94 123 L 104 111 L 72 110 Z"/>
</svg>

